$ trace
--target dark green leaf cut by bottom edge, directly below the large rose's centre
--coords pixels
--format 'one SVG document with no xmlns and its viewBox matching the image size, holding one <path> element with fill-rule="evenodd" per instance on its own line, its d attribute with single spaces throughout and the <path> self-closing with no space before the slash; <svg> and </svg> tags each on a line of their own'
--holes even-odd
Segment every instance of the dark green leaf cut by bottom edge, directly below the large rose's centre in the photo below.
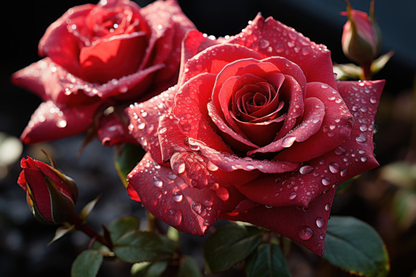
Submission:
<svg viewBox="0 0 416 277">
<path fill-rule="evenodd" d="M 285 257 L 276 244 L 264 243 L 247 258 L 247 277 L 290 277 Z"/>
</svg>

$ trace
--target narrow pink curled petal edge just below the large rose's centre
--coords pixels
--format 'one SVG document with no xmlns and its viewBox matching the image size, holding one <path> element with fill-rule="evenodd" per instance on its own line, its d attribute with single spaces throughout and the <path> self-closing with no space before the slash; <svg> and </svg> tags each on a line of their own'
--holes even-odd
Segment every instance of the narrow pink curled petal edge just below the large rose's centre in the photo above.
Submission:
<svg viewBox="0 0 416 277">
<path fill-rule="evenodd" d="M 279 161 L 268 161 L 268 160 L 256 160 L 250 157 L 239 158 L 236 155 L 229 153 L 218 152 L 215 149 L 208 147 L 205 143 L 192 138 L 188 139 L 189 145 L 197 147 L 201 154 L 212 162 L 220 169 L 224 171 L 234 171 L 243 169 L 244 171 L 253 171 L 257 169 L 263 173 L 283 173 L 292 171 L 298 168 L 300 163 L 293 162 L 279 162 Z M 248 182 L 247 179 L 243 179 Z M 238 183 L 237 183 L 238 184 Z M 241 184 L 241 182 L 239 183 Z"/>
</svg>

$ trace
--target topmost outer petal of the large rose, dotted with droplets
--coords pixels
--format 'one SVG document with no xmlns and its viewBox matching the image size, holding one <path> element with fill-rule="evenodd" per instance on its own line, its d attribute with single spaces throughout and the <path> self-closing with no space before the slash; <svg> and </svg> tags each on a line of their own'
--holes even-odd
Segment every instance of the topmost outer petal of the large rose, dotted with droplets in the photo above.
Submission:
<svg viewBox="0 0 416 277">
<path fill-rule="evenodd" d="M 259 38 L 256 39 L 254 38 Z M 275 42 L 276 41 L 276 42 Z M 297 64 L 307 82 L 322 82 L 336 88 L 331 53 L 324 45 L 317 45 L 273 18 L 266 20 L 258 14 L 245 32 L 226 42 L 247 46 L 263 57 L 280 56 Z"/>
</svg>

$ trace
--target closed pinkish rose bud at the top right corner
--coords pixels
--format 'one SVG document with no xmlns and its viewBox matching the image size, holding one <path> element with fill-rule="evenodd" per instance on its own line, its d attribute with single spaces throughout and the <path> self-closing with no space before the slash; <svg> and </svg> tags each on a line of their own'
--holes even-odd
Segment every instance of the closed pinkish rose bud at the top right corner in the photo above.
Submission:
<svg viewBox="0 0 416 277">
<path fill-rule="evenodd" d="M 348 1 L 347 11 L 341 15 L 348 17 L 342 34 L 344 54 L 360 65 L 369 65 L 381 47 L 381 32 L 374 18 L 374 0 L 370 4 L 370 16 L 351 9 Z"/>
</svg>

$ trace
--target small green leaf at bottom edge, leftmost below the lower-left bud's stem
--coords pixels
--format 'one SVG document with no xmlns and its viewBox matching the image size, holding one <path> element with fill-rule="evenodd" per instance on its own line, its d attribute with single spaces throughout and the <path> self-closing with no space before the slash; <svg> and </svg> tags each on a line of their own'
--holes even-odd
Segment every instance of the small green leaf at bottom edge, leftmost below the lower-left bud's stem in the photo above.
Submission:
<svg viewBox="0 0 416 277">
<path fill-rule="evenodd" d="M 95 250 L 85 250 L 72 263 L 71 277 L 95 277 L 103 261 L 103 255 Z"/>
</svg>

